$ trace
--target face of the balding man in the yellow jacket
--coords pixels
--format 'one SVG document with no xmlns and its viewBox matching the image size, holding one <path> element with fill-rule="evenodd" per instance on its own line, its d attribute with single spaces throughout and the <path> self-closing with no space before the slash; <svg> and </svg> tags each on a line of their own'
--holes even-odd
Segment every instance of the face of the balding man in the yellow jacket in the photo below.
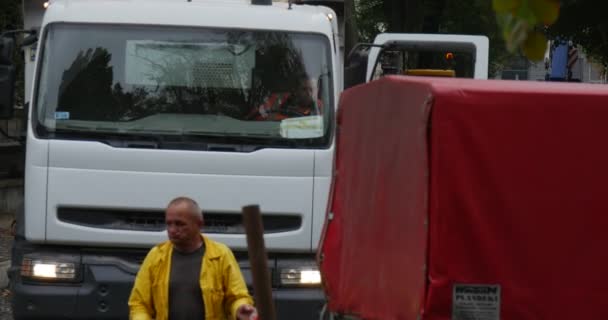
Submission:
<svg viewBox="0 0 608 320">
<path fill-rule="evenodd" d="M 167 235 L 169 240 L 178 247 L 187 247 L 200 237 L 203 227 L 202 219 L 198 219 L 192 208 L 186 203 L 179 203 L 167 208 L 165 212 Z"/>
</svg>

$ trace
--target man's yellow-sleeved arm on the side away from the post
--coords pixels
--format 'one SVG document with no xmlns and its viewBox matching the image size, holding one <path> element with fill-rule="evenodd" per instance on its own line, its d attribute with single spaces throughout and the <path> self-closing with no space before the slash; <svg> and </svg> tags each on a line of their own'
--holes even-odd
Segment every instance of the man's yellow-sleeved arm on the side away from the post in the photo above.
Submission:
<svg viewBox="0 0 608 320">
<path fill-rule="evenodd" d="M 152 281 L 150 278 L 152 248 L 142 263 L 129 297 L 129 319 L 151 320 L 155 317 L 152 300 Z"/>
</svg>

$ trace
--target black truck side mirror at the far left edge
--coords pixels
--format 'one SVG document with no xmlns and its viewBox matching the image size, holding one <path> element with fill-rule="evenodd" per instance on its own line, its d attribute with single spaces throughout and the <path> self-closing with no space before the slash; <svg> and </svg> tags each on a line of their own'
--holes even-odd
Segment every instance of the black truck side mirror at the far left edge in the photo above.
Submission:
<svg viewBox="0 0 608 320">
<path fill-rule="evenodd" d="M 0 119 L 13 117 L 15 100 L 15 66 L 13 39 L 0 37 Z"/>
</svg>

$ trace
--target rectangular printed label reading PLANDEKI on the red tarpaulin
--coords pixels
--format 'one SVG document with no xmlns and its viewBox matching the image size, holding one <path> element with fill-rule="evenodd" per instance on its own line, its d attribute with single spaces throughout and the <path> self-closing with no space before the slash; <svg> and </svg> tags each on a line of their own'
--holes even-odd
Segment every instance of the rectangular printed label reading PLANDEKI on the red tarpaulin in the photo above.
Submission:
<svg viewBox="0 0 608 320">
<path fill-rule="evenodd" d="M 500 286 L 455 284 L 452 320 L 499 320 Z"/>
</svg>

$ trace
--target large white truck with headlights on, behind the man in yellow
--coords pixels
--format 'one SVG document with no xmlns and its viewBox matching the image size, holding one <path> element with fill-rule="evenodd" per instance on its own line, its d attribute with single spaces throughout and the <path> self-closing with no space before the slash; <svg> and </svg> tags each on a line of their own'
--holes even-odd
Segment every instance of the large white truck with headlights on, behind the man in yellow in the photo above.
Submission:
<svg viewBox="0 0 608 320">
<path fill-rule="evenodd" d="M 318 5 L 331 1 L 309 3 L 24 1 L 39 39 L 25 48 L 16 319 L 126 318 L 141 260 L 166 240 L 163 209 L 181 195 L 200 202 L 203 232 L 233 249 L 248 284 L 240 210 L 259 204 L 277 317 L 318 317 L 314 255 L 334 174 L 343 24 Z M 398 43 L 374 48 L 382 56 Z M 467 48 L 487 70 L 487 39 Z M 251 117 L 302 78 L 314 80 L 317 114 Z"/>
</svg>

